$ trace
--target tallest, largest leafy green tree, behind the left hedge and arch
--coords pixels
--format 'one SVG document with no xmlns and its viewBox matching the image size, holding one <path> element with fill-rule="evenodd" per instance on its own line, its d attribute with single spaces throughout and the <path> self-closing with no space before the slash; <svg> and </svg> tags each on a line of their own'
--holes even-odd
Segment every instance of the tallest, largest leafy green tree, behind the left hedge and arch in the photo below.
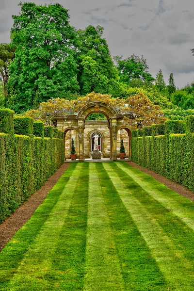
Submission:
<svg viewBox="0 0 194 291">
<path fill-rule="evenodd" d="M 16 58 L 10 65 L 8 81 L 9 92 L 12 89 L 16 94 L 13 109 L 17 112 L 79 90 L 74 58 L 77 37 L 68 11 L 58 3 L 19 5 L 21 14 L 13 16 L 11 30 Z"/>
</svg>

